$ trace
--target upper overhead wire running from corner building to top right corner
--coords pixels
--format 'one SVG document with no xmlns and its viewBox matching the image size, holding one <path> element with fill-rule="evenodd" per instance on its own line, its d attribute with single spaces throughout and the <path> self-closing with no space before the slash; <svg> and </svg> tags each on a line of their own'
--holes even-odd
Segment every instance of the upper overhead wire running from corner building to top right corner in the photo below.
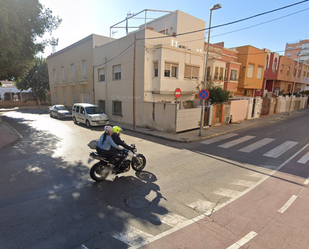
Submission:
<svg viewBox="0 0 309 249">
<path fill-rule="evenodd" d="M 247 21 L 247 20 L 252 19 L 252 18 L 256 18 L 256 17 L 259 17 L 259 16 L 263 16 L 263 15 L 266 15 L 266 14 L 270 14 L 270 13 L 273 13 L 273 12 L 276 12 L 276 11 L 279 11 L 279 10 L 287 9 L 287 8 L 290 8 L 290 7 L 293 7 L 293 6 L 296 6 L 296 5 L 299 5 L 299 4 L 308 2 L 308 1 L 309 1 L 309 0 L 303 0 L 303 1 L 296 2 L 296 3 L 293 3 L 293 4 L 289 4 L 289 5 L 286 5 L 286 6 L 277 8 L 277 9 L 273 9 L 273 10 L 269 10 L 269 11 L 262 12 L 262 13 L 259 13 L 259 14 L 255 14 L 255 15 L 252 15 L 252 16 L 249 16 L 249 17 L 246 17 L 246 18 L 242 18 L 242 19 L 235 20 L 235 21 L 232 21 L 232 22 L 228 22 L 228 23 L 223 23 L 223 24 L 219 24 L 219 25 L 216 25 L 216 26 L 212 26 L 212 27 L 210 27 L 210 28 L 211 28 L 211 29 L 215 29 L 215 28 L 220 28 L 220 27 L 232 25 L 232 24 L 235 24 L 235 23 Z M 184 32 L 184 33 L 180 33 L 180 34 L 169 35 L 169 36 L 157 36 L 157 37 L 139 38 L 139 40 L 143 40 L 143 39 L 148 39 L 148 40 L 152 40 L 152 39 L 162 39 L 162 38 L 166 38 L 166 37 L 188 35 L 188 34 L 193 34 L 193 33 L 197 33 L 197 32 L 206 31 L 206 30 L 208 30 L 208 29 L 209 29 L 209 28 L 204 28 L 204 29 L 199 29 L 199 30 Z"/>
</svg>

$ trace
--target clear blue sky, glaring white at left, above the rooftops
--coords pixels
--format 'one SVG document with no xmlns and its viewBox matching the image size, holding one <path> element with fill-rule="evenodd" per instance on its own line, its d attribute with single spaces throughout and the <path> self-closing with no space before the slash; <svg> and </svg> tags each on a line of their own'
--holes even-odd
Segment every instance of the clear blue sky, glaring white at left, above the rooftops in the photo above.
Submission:
<svg viewBox="0 0 309 249">
<path fill-rule="evenodd" d="M 90 34 L 109 36 L 109 27 L 111 25 L 125 19 L 127 13 L 137 13 L 143 9 L 181 10 L 205 20 L 208 27 L 209 8 L 217 3 L 221 3 L 222 8 L 213 11 L 212 26 L 242 19 L 299 1 L 301 0 L 221 0 L 219 2 L 216 0 L 40 0 L 45 7 L 52 10 L 53 15 L 58 15 L 62 19 L 60 27 L 52 34 L 48 33 L 44 37 L 46 39 L 51 37 L 59 39 L 58 46 L 56 47 L 57 51 Z M 281 18 L 298 11 L 302 12 Z M 210 43 L 224 41 L 227 48 L 252 45 L 283 54 L 281 51 L 285 49 L 287 42 L 309 38 L 308 15 L 309 1 L 238 24 L 213 29 L 211 31 Z M 148 17 L 155 18 L 158 17 L 158 14 L 151 13 Z M 242 31 L 224 34 L 276 18 L 280 19 Z M 136 19 L 130 21 L 129 24 L 136 26 L 142 24 L 142 22 L 142 19 Z M 192 30 L 195 30 L 195 28 L 192 27 Z M 114 38 L 124 35 L 125 31 L 118 29 L 118 32 L 114 34 Z M 43 57 L 47 57 L 51 52 L 51 46 L 46 47 Z"/>
</svg>

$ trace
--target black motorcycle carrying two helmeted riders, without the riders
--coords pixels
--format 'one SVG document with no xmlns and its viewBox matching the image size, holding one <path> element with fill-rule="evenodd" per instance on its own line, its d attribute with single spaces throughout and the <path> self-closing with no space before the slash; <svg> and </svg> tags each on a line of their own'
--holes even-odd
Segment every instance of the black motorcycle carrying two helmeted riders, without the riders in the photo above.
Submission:
<svg viewBox="0 0 309 249">
<path fill-rule="evenodd" d="M 126 153 L 125 159 L 118 166 L 118 169 L 115 169 L 115 165 L 109 161 L 109 157 L 104 155 L 99 155 L 96 152 L 91 152 L 90 157 L 93 159 L 99 160 L 98 163 L 94 164 L 90 169 L 90 177 L 97 181 L 104 181 L 109 174 L 121 174 L 128 172 L 130 167 L 135 171 L 142 171 L 146 166 L 146 158 L 143 154 L 136 154 L 137 149 L 134 144 L 131 144 L 131 147 L 134 149 L 132 151 L 124 150 L 123 153 Z"/>
</svg>

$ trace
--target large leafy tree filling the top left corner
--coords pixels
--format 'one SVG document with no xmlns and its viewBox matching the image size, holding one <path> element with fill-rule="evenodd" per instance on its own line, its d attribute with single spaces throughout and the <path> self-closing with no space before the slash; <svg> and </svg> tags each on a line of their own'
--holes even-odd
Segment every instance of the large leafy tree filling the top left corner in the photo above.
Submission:
<svg viewBox="0 0 309 249">
<path fill-rule="evenodd" d="M 38 0 L 0 0 L 0 80 L 22 77 L 43 52 L 46 32 L 58 28 L 61 19 Z"/>
</svg>

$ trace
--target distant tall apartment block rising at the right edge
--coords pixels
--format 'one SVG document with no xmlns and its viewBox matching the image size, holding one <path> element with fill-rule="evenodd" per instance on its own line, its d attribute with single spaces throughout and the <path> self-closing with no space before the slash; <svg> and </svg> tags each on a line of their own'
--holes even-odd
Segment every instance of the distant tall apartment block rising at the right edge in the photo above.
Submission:
<svg viewBox="0 0 309 249">
<path fill-rule="evenodd" d="M 301 54 L 300 58 L 299 54 Z M 292 60 L 299 59 L 301 62 L 309 62 L 309 39 L 287 43 L 284 55 Z"/>
</svg>

